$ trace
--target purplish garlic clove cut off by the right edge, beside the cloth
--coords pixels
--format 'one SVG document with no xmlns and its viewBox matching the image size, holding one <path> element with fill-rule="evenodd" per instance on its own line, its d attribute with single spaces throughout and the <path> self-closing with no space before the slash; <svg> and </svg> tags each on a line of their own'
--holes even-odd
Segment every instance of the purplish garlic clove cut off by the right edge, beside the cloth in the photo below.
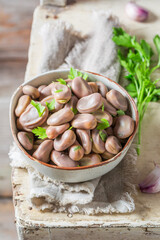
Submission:
<svg viewBox="0 0 160 240">
<path fill-rule="evenodd" d="M 143 193 L 160 192 L 160 167 L 155 165 L 155 168 L 143 182 L 139 184 L 139 188 Z"/>
</svg>

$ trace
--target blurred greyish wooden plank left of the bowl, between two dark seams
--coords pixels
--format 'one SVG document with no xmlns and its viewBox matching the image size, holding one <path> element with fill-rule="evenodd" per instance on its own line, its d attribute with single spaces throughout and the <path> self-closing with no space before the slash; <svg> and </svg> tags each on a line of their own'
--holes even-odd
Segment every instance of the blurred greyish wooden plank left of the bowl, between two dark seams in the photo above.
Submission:
<svg viewBox="0 0 160 240">
<path fill-rule="evenodd" d="M 14 90 L 23 82 L 26 61 L 7 61 L 0 64 L 0 196 L 11 196 L 11 168 L 8 152 L 13 141 L 9 126 L 9 104 Z"/>
</svg>

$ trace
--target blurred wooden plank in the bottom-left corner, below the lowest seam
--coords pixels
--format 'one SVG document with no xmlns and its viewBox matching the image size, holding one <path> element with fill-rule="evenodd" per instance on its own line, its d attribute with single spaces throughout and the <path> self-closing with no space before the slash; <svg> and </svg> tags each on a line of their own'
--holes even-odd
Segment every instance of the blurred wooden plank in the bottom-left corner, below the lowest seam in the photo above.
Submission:
<svg viewBox="0 0 160 240">
<path fill-rule="evenodd" d="M 0 199 L 0 239 L 16 240 L 16 225 L 12 199 Z"/>
</svg>

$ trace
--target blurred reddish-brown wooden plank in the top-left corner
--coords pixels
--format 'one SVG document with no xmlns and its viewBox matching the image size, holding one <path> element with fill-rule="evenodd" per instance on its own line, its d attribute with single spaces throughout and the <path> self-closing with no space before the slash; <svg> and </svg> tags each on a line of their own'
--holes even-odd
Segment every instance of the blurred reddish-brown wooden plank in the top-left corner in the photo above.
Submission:
<svg viewBox="0 0 160 240">
<path fill-rule="evenodd" d="M 0 59 L 27 58 L 32 14 L 39 0 L 0 0 Z"/>
</svg>

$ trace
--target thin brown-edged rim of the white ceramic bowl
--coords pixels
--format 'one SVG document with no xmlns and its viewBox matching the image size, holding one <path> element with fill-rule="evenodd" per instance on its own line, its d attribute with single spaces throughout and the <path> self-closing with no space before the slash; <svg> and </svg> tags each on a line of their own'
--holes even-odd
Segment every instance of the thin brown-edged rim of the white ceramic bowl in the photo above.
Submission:
<svg viewBox="0 0 160 240">
<path fill-rule="evenodd" d="M 79 69 L 78 69 L 79 70 Z M 11 98 L 11 104 L 10 104 L 10 113 L 11 113 L 11 106 L 12 106 L 12 100 L 14 98 L 14 96 L 16 95 L 17 91 L 22 88 L 24 85 L 26 85 L 28 82 L 31 82 L 33 81 L 34 79 L 38 78 L 38 77 L 41 77 L 41 76 L 44 76 L 44 75 L 47 75 L 49 73 L 52 73 L 52 72 L 68 72 L 69 70 L 68 69 L 61 69 L 61 70 L 52 70 L 52 71 L 48 71 L 48 72 L 45 72 L 43 74 L 40 74 L 40 75 L 37 75 L 36 77 L 32 78 L 30 81 L 27 81 L 27 82 L 24 82 L 23 84 L 21 84 L 17 90 L 14 92 L 12 98 Z M 49 167 L 49 168 L 54 168 L 54 169 L 59 169 L 59 170 L 84 170 L 84 169 L 88 169 L 88 168 L 94 168 L 94 167 L 100 167 L 102 165 L 105 165 L 105 164 L 108 164 L 110 162 L 113 162 L 115 161 L 121 154 L 122 152 L 127 148 L 127 146 L 130 144 L 131 140 L 135 137 L 135 134 L 136 134 L 136 131 L 137 131 L 137 128 L 138 128 L 138 123 L 139 123 L 139 115 L 138 115 L 138 110 L 137 110 L 137 107 L 136 107 L 136 104 L 133 100 L 133 98 L 128 94 L 128 92 L 121 86 L 119 85 L 117 82 L 111 80 L 110 78 L 106 77 L 106 76 L 103 76 L 102 74 L 99 74 L 99 73 L 94 73 L 94 72 L 91 72 L 91 71 L 85 71 L 85 70 L 79 70 L 79 71 L 82 71 L 82 72 L 88 72 L 88 73 L 91 73 L 93 75 L 96 75 L 96 76 L 100 76 L 100 77 L 103 77 L 103 78 L 106 78 L 107 80 L 109 80 L 110 82 L 114 83 L 115 85 L 118 85 L 119 88 L 122 89 L 123 92 L 126 93 L 127 97 L 129 98 L 130 100 L 130 104 L 133 106 L 133 109 L 135 111 L 135 128 L 134 128 L 134 131 L 132 133 L 132 135 L 128 138 L 125 146 L 122 148 L 122 150 L 116 154 L 114 157 L 110 158 L 110 159 L 106 159 L 100 163 L 96 163 L 96 164 L 93 164 L 93 165 L 89 165 L 89 166 L 80 166 L 80 167 L 59 167 L 59 166 L 56 166 L 56 165 L 51 165 L 51 164 L 48 164 L 48 163 L 45 163 L 45 162 L 42 162 L 34 157 L 32 157 L 22 146 L 21 144 L 19 143 L 18 139 L 17 139 L 17 135 L 16 133 L 14 132 L 13 130 L 13 125 L 12 125 L 12 122 L 15 120 L 15 117 L 14 119 L 11 119 L 10 117 L 10 127 L 11 127 L 11 132 L 12 132 L 12 136 L 13 136 L 13 139 L 14 141 L 16 142 L 17 146 L 20 148 L 20 150 L 27 156 L 29 157 L 31 160 L 33 161 L 36 161 L 46 167 Z"/>
</svg>

